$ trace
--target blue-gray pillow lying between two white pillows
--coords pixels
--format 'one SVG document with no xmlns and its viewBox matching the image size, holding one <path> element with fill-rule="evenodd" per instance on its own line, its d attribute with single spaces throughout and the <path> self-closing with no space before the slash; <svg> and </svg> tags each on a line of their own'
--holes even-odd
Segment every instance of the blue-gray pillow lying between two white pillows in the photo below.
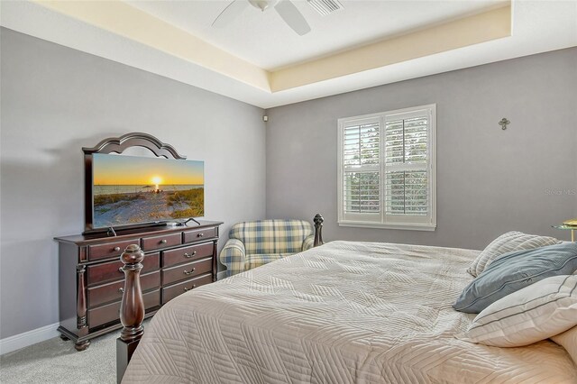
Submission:
<svg viewBox="0 0 577 384">
<path fill-rule="evenodd" d="M 463 289 L 453 308 L 478 314 L 487 306 L 539 280 L 577 270 L 577 242 L 505 253 Z"/>
</svg>

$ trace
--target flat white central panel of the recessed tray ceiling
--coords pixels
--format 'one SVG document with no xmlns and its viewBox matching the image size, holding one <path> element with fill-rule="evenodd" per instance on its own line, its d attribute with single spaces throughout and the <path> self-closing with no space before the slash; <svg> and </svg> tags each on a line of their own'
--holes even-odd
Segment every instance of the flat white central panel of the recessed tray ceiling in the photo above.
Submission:
<svg viewBox="0 0 577 384">
<path fill-rule="evenodd" d="M 305 36 L 290 30 L 270 8 L 261 12 L 247 7 L 225 28 L 214 28 L 211 24 L 215 17 L 230 1 L 130 0 L 126 3 L 262 69 L 275 70 L 508 2 L 341 0 L 342 10 L 322 16 L 306 0 L 293 0 L 311 26 L 312 31 Z"/>
</svg>

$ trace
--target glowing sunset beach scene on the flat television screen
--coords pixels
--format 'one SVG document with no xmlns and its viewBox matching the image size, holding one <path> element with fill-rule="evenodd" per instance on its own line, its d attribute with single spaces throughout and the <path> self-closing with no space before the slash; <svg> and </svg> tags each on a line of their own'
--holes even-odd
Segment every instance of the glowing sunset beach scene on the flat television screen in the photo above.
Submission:
<svg viewBox="0 0 577 384">
<path fill-rule="evenodd" d="M 94 226 L 179 221 L 204 216 L 204 162 L 96 153 Z"/>
</svg>

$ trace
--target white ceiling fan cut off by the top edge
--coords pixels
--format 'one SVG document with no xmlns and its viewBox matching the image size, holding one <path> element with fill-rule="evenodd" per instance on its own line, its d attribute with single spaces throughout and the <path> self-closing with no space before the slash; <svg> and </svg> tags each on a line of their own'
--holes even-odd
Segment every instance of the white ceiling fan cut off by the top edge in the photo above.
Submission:
<svg viewBox="0 0 577 384">
<path fill-rule="evenodd" d="M 310 32 L 307 20 L 290 0 L 234 0 L 216 17 L 212 25 L 214 27 L 224 27 L 241 14 L 248 5 L 260 9 L 262 12 L 272 7 L 298 35 L 302 36 Z"/>
</svg>

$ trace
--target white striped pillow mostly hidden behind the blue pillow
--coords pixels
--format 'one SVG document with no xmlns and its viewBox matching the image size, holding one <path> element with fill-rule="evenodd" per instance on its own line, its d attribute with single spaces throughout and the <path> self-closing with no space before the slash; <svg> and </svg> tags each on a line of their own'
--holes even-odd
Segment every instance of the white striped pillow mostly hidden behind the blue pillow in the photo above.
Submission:
<svg viewBox="0 0 577 384">
<path fill-rule="evenodd" d="M 481 272 L 485 270 L 492 261 L 502 254 L 510 251 L 532 250 L 534 248 L 558 243 L 560 243 L 560 241 L 554 237 L 539 236 L 517 231 L 503 233 L 487 245 L 479 256 L 477 256 L 477 259 L 472 262 L 467 272 L 476 278 L 481 275 Z"/>
</svg>

